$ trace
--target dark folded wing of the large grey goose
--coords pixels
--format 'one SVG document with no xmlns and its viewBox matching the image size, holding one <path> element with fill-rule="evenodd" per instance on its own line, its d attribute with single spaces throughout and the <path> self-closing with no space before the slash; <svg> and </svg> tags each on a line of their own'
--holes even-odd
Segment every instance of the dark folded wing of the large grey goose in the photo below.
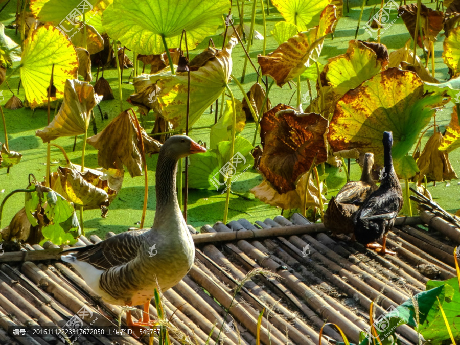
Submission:
<svg viewBox="0 0 460 345">
<path fill-rule="evenodd" d="M 128 231 L 110 237 L 97 244 L 69 249 L 79 261 L 85 261 L 100 269 L 124 265 L 136 256 L 143 243 L 143 231 Z"/>
</svg>

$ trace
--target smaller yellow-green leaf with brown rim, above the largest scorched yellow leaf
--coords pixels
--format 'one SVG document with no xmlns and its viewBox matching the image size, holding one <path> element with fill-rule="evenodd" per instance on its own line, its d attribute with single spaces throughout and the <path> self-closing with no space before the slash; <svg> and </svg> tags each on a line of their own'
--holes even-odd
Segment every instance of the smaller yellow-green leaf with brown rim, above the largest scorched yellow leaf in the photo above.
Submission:
<svg viewBox="0 0 460 345">
<path fill-rule="evenodd" d="M 383 44 L 380 45 L 384 47 Z M 385 64 L 384 52 L 387 57 L 386 48 L 378 56 L 364 42 L 351 40 L 347 53 L 330 58 L 324 67 L 323 73 L 328 85 L 334 87 L 336 94 L 344 95 L 382 70 Z"/>
</svg>

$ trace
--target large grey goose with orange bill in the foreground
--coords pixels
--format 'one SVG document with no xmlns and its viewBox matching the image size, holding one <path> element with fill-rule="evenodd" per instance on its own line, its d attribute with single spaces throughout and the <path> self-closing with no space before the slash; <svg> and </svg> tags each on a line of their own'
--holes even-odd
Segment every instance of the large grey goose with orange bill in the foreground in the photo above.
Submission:
<svg viewBox="0 0 460 345">
<path fill-rule="evenodd" d="M 195 245 L 177 201 L 176 173 L 180 158 L 206 149 L 190 137 L 174 135 L 165 141 L 156 166 L 156 212 L 150 229 L 127 231 L 97 244 L 66 250 L 70 263 L 103 300 L 121 306 L 144 305 L 142 321 L 127 325 L 152 326 L 149 306 L 154 290 L 166 291 L 191 269 Z"/>
</svg>

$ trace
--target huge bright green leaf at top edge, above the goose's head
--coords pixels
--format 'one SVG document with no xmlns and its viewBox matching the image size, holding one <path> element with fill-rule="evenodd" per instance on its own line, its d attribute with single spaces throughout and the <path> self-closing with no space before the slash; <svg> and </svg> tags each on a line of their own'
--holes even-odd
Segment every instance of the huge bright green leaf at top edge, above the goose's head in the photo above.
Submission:
<svg viewBox="0 0 460 345">
<path fill-rule="evenodd" d="M 228 12 L 228 0 L 114 0 L 104 11 L 102 24 L 113 39 L 137 53 L 161 54 L 177 48 L 182 30 L 187 32 L 189 49 L 213 35 Z"/>
</svg>

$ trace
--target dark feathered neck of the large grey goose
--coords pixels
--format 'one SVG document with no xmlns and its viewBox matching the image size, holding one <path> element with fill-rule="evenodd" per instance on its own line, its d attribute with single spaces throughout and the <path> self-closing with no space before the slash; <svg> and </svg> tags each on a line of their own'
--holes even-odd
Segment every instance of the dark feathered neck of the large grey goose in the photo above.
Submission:
<svg viewBox="0 0 460 345">
<path fill-rule="evenodd" d="M 182 219 L 176 193 L 177 160 L 161 152 L 156 166 L 156 212 L 154 228 L 161 228 L 168 219 Z M 172 224 L 171 224 L 172 225 Z"/>
</svg>

